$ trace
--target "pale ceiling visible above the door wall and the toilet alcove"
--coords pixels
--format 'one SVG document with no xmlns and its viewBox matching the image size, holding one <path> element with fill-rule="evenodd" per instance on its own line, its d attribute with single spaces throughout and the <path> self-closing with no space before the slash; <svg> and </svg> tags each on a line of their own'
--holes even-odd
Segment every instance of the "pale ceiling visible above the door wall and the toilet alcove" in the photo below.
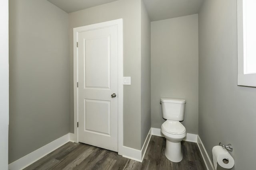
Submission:
<svg viewBox="0 0 256 170">
<path fill-rule="evenodd" d="M 116 0 L 48 0 L 67 13 Z M 197 14 L 203 0 L 144 0 L 151 21 Z M 132 12 L 132 11 L 131 11 Z"/>
</svg>

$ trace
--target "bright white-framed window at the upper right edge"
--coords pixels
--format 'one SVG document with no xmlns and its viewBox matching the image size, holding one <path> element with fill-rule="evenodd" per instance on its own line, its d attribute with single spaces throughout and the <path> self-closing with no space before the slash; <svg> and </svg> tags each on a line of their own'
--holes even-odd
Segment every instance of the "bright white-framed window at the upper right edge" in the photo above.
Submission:
<svg viewBox="0 0 256 170">
<path fill-rule="evenodd" d="M 238 85 L 256 87 L 256 0 L 237 0 Z"/>
</svg>

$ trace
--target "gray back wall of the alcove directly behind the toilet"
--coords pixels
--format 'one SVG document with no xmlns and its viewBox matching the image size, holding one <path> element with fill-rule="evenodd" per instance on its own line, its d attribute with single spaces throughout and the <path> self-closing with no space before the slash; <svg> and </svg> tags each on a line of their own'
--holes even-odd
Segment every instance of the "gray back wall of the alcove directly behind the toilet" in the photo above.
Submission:
<svg viewBox="0 0 256 170">
<path fill-rule="evenodd" d="M 160 98 L 186 99 L 182 124 L 198 134 L 198 15 L 151 22 L 151 122 L 161 128 Z"/>
</svg>

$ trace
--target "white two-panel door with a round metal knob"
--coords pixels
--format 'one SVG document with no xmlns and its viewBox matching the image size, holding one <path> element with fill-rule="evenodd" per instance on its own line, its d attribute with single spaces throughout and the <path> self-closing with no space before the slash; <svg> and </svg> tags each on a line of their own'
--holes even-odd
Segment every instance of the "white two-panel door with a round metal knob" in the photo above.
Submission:
<svg viewBox="0 0 256 170">
<path fill-rule="evenodd" d="M 78 141 L 118 151 L 118 26 L 88 25 L 78 39 Z"/>
</svg>

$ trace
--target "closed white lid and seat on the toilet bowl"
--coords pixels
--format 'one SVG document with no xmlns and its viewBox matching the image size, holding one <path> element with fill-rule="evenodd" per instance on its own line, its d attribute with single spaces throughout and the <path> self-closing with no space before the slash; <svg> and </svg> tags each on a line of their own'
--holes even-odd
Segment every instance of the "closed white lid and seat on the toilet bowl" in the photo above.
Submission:
<svg viewBox="0 0 256 170">
<path fill-rule="evenodd" d="M 173 120 L 166 120 L 162 124 L 162 130 L 173 135 L 186 133 L 186 128 L 179 121 Z"/>
</svg>

